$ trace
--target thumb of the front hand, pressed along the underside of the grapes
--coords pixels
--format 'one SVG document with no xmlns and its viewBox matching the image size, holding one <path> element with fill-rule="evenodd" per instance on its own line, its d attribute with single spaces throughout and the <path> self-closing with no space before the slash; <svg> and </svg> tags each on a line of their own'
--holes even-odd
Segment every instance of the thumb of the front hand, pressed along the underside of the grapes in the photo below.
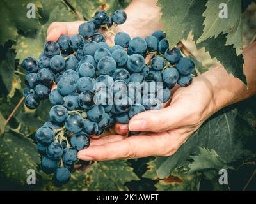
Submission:
<svg viewBox="0 0 256 204">
<path fill-rule="evenodd" d="M 173 104 L 161 110 L 148 110 L 132 117 L 129 131 L 163 132 L 182 126 L 182 110 Z"/>
</svg>

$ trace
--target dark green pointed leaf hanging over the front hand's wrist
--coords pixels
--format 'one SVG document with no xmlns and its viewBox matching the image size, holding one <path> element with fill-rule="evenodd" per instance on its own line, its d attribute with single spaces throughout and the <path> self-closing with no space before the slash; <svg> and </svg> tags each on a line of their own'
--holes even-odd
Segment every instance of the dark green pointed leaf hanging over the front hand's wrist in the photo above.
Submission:
<svg viewBox="0 0 256 204">
<path fill-rule="evenodd" d="M 227 34 L 220 34 L 217 38 L 209 38 L 197 44 L 196 47 L 199 49 L 205 47 L 205 51 L 209 52 L 212 58 L 216 57 L 228 73 L 232 73 L 234 77 L 239 78 L 244 84 L 247 84 L 246 77 L 243 73 L 243 55 L 237 56 L 236 49 L 232 45 L 224 46 L 227 40 L 226 36 Z"/>
</svg>

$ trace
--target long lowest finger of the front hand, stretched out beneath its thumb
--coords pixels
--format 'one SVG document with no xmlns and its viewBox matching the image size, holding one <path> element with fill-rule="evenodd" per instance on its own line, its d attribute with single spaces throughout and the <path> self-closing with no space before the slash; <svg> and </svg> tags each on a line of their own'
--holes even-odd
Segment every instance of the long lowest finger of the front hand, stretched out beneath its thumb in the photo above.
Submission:
<svg viewBox="0 0 256 204">
<path fill-rule="evenodd" d="M 111 140 L 109 138 L 109 140 Z M 93 145 L 78 152 L 81 160 L 113 160 L 124 158 L 139 158 L 147 156 L 168 156 L 176 152 L 184 138 L 177 137 L 172 141 L 169 133 L 161 136 L 137 135 L 116 142 Z"/>
</svg>

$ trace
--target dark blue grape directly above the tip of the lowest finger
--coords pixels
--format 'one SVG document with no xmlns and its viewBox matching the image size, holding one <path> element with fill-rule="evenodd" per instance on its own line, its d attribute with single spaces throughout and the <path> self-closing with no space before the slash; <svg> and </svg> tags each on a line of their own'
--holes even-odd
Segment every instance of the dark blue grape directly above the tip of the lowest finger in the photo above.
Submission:
<svg viewBox="0 0 256 204">
<path fill-rule="evenodd" d="M 76 150 L 86 149 L 90 145 L 90 137 L 84 132 L 72 136 L 70 143 Z"/>
</svg>

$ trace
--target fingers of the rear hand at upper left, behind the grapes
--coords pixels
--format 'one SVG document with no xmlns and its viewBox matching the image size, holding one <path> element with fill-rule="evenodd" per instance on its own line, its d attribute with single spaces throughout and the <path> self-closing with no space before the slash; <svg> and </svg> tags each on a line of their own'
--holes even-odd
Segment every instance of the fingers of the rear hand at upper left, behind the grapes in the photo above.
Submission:
<svg viewBox="0 0 256 204">
<path fill-rule="evenodd" d="M 47 41 L 57 41 L 61 35 L 67 34 L 72 36 L 73 34 L 78 33 L 79 25 L 83 21 L 74 21 L 74 22 L 53 22 L 47 30 Z"/>
</svg>

